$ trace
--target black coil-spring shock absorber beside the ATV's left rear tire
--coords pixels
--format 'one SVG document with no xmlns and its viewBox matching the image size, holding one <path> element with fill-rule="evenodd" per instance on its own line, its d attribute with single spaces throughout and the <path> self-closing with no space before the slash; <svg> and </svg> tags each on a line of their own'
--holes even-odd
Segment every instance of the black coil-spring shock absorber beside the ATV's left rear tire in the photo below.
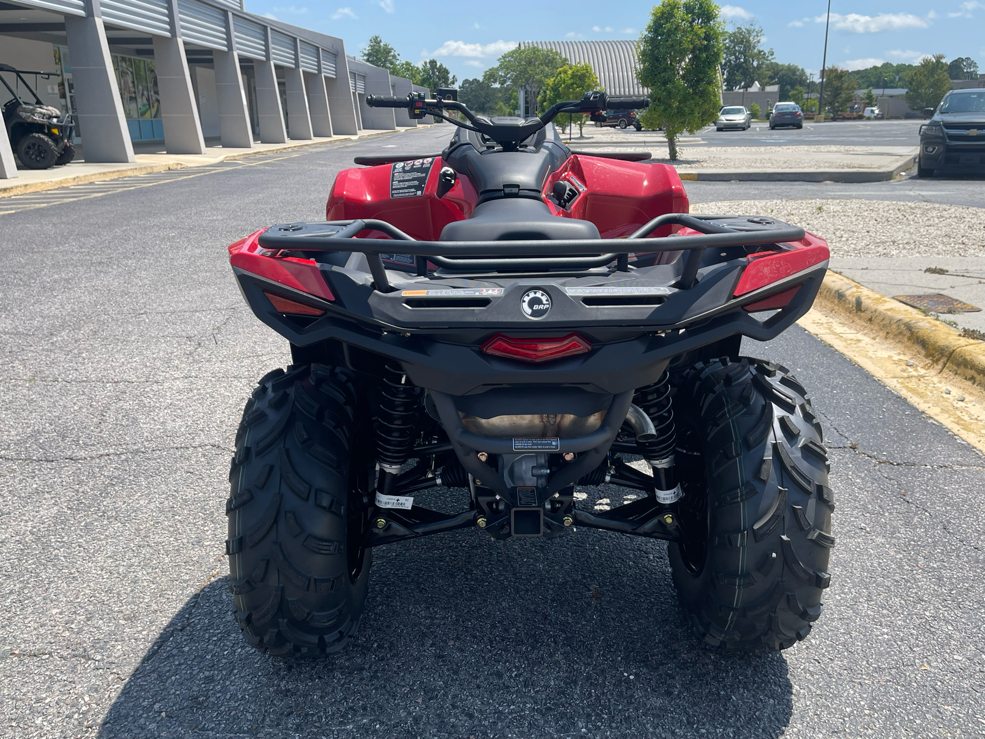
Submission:
<svg viewBox="0 0 985 739">
<path fill-rule="evenodd" d="M 400 468 L 414 450 L 414 427 L 421 409 L 421 388 L 396 362 L 383 369 L 383 392 L 376 414 L 376 490 L 389 495 Z"/>
</svg>

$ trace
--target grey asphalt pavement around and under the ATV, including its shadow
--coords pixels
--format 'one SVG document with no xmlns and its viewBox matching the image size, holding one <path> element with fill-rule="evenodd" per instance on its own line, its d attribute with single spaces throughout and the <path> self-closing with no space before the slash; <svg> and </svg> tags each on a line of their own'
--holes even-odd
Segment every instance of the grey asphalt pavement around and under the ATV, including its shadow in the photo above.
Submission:
<svg viewBox="0 0 985 739">
<path fill-rule="evenodd" d="M 466 530 L 376 553 L 346 651 L 289 662 L 242 644 L 229 458 L 255 380 L 289 355 L 226 245 L 323 218 L 353 156 L 449 134 L 0 216 L 0 734 L 985 736 L 985 457 L 797 327 L 746 351 L 811 390 L 830 451 L 837 544 L 806 641 L 695 641 L 659 542 Z"/>
</svg>

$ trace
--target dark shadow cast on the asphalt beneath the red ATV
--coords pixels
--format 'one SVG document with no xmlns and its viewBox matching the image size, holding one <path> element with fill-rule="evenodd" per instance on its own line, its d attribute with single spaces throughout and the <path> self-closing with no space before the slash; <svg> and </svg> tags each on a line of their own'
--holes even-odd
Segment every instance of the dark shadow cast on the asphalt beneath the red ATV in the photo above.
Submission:
<svg viewBox="0 0 985 739">
<path fill-rule="evenodd" d="M 759 739 L 792 711 L 783 656 L 696 641 L 666 547 L 604 532 L 498 543 L 473 530 L 383 548 L 361 634 L 327 659 L 254 653 L 230 609 L 225 579 L 189 600 L 99 737 Z"/>
</svg>

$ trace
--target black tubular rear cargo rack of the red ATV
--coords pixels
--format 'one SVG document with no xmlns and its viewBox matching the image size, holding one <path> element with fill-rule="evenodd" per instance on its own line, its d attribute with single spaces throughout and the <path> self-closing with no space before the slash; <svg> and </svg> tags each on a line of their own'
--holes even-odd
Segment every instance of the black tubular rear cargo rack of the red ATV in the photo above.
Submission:
<svg viewBox="0 0 985 739">
<path fill-rule="evenodd" d="M 715 221 L 728 219 L 729 227 Z M 319 223 L 279 224 L 260 235 L 268 249 L 290 251 L 350 251 L 365 255 L 376 290 L 392 292 L 380 254 L 399 252 L 417 257 L 419 274 L 427 274 L 427 261 L 449 270 L 588 269 L 616 262 L 627 272 L 630 253 L 687 251 L 680 287 L 694 284 L 704 250 L 730 246 L 776 246 L 804 238 L 804 230 L 768 218 L 667 213 L 658 216 L 625 238 L 528 239 L 516 241 L 421 241 L 386 221 L 357 219 Z M 685 226 L 700 235 L 650 237 L 661 226 Z M 378 231 L 388 238 L 356 238 L 364 231 Z M 346 243 L 341 243 L 342 241 Z M 613 248 L 620 248 L 613 251 Z M 632 248 L 626 248 L 631 246 Z"/>
</svg>

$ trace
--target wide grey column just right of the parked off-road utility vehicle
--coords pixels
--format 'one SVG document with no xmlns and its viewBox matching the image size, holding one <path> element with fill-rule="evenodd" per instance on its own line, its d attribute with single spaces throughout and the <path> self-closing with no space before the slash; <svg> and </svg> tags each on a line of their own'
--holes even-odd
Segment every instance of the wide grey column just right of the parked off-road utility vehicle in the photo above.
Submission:
<svg viewBox="0 0 985 739">
<path fill-rule="evenodd" d="M 133 162 L 133 144 L 123 115 L 99 2 L 86 4 L 88 15 L 65 16 L 72 58 L 76 110 L 86 162 Z"/>
</svg>

